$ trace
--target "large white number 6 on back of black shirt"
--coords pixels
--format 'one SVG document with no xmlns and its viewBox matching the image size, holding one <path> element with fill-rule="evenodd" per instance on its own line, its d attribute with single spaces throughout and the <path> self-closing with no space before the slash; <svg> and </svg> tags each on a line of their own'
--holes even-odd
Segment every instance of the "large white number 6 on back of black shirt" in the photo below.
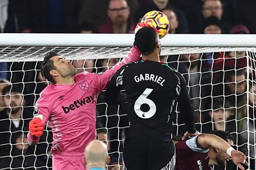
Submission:
<svg viewBox="0 0 256 170">
<path fill-rule="evenodd" d="M 144 92 L 138 97 L 138 99 L 134 103 L 134 111 L 136 115 L 138 115 L 140 118 L 148 119 L 155 115 L 156 105 L 152 100 L 147 98 L 152 91 L 153 89 L 146 88 L 146 90 L 144 90 Z M 140 109 L 141 105 L 143 104 L 149 105 L 149 111 L 143 112 Z"/>
</svg>

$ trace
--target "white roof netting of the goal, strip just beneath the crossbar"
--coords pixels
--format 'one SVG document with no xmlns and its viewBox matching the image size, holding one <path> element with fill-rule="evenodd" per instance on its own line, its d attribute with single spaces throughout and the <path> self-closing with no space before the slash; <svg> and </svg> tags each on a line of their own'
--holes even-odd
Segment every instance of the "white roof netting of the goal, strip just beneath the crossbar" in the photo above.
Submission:
<svg viewBox="0 0 256 170">
<path fill-rule="evenodd" d="M 48 47 L 48 46 L 0 46 L 0 62 L 43 61 L 44 55 L 57 50 L 69 60 L 123 58 L 130 47 Z M 254 47 L 162 47 L 162 55 L 178 55 L 206 52 L 251 51 Z"/>
</svg>

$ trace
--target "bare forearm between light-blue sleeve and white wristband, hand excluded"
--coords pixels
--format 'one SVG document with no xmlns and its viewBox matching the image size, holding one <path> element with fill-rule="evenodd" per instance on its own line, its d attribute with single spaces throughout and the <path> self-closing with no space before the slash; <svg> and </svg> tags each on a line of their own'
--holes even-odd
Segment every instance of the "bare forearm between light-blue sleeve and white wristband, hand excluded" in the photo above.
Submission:
<svg viewBox="0 0 256 170">
<path fill-rule="evenodd" d="M 197 137 L 197 145 L 203 149 L 209 149 L 211 146 L 226 152 L 230 147 L 229 143 L 214 134 L 201 134 Z"/>
</svg>

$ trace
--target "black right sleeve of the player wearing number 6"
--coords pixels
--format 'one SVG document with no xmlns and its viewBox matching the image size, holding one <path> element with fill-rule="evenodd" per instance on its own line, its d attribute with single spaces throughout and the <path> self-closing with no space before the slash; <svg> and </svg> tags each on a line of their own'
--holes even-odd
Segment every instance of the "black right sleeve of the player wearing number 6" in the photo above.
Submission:
<svg viewBox="0 0 256 170">
<path fill-rule="evenodd" d="M 184 77 L 181 74 L 176 74 L 180 80 L 180 95 L 178 96 L 178 104 L 181 109 L 181 114 L 184 116 L 187 126 L 187 131 L 190 134 L 196 132 L 195 121 L 194 121 L 194 109 L 192 102 L 190 101 L 190 96 L 187 91 L 187 85 Z"/>
</svg>

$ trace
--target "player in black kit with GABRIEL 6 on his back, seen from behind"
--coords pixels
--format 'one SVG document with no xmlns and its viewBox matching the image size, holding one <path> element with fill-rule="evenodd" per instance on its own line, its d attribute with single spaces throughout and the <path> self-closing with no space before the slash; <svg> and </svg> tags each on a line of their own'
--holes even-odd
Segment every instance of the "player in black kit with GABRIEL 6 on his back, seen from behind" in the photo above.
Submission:
<svg viewBox="0 0 256 170">
<path fill-rule="evenodd" d="M 124 143 L 123 159 L 128 170 L 172 170 L 175 147 L 171 140 L 171 112 L 178 101 L 186 119 L 185 137 L 196 135 L 194 111 L 182 75 L 160 62 L 161 44 L 152 27 L 135 35 L 142 53 L 140 62 L 124 65 L 107 86 L 108 103 L 118 103 L 126 91 L 130 128 Z"/>
</svg>

